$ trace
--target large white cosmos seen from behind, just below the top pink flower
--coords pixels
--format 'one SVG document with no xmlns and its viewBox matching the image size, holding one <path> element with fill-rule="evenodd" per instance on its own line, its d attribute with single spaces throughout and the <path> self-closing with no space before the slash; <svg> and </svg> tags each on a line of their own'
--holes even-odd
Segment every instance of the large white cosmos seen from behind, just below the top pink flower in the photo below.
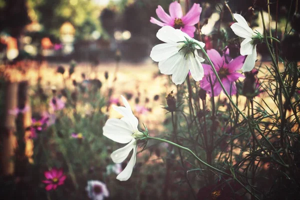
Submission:
<svg viewBox="0 0 300 200">
<path fill-rule="evenodd" d="M 167 25 L 158 30 L 156 37 L 165 43 L 155 45 L 151 50 L 150 57 L 158 62 L 158 68 L 161 73 L 172 74 L 172 81 L 175 84 L 181 84 L 185 80 L 188 70 L 195 81 L 202 79 L 204 71 L 201 62 L 204 59 L 198 56 L 195 49 L 200 47 L 194 46 L 193 55 L 191 51 L 180 50 L 183 45 L 186 45 L 180 41 L 186 41 L 187 38 L 204 47 L 205 44 L 203 42 L 191 38 L 180 29 L 174 29 Z"/>
</svg>

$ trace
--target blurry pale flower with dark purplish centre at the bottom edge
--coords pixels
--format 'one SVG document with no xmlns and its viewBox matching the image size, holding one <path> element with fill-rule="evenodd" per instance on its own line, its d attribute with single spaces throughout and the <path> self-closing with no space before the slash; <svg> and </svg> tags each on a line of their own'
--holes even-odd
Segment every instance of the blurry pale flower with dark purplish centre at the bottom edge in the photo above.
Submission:
<svg viewBox="0 0 300 200">
<path fill-rule="evenodd" d="M 92 200 L 103 200 L 109 196 L 106 184 L 98 180 L 88 180 L 85 187 L 87 196 Z"/>
</svg>

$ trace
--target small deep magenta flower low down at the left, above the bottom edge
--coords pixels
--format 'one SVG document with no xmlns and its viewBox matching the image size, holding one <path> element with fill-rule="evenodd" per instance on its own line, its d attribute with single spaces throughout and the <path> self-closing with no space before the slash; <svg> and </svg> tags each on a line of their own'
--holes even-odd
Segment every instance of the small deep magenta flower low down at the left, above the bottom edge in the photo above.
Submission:
<svg viewBox="0 0 300 200">
<path fill-rule="evenodd" d="M 56 189 L 58 185 L 62 185 L 66 178 L 66 175 L 63 175 L 62 169 L 53 168 L 49 171 L 44 171 L 44 176 L 47 180 L 43 180 L 43 183 L 46 183 L 47 186 L 45 189 L 47 191 L 51 189 Z"/>
</svg>

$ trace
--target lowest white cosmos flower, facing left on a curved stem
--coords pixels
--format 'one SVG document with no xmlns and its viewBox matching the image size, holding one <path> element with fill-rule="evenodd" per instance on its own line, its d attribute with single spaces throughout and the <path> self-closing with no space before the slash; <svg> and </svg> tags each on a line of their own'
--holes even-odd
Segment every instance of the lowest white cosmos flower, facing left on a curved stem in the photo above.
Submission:
<svg viewBox="0 0 300 200">
<path fill-rule="evenodd" d="M 127 166 L 116 176 L 118 180 L 127 180 L 132 173 L 133 166 L 136 161 L 136 139 L 143 136 L 143 133 L 138 131 L 138 120 L 133 115 L 131 107 L 128 101 L 122 96 L 123 106 L 112 105 L 112 108 L 119 112 L 123 117 L 121 119 L 110 118 L 103 126 L 103 135 L 119 143 L 127 143 L 124 147 L 121 147 L 113 151 L 110 155 L 114 163 L 121 163 L 128 156 L 133 149 L 133 153 Z"/>
</svg>

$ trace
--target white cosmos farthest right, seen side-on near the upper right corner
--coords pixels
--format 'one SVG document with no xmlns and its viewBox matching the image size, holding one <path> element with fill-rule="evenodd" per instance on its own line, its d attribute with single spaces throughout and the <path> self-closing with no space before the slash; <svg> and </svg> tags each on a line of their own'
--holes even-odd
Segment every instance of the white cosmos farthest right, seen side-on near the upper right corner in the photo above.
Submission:
<svg viewBox="0 0 300 200">
<path fill-rule="evenodd" d="M 237 22 L 233 23 L 230 27 L 237 36 L 244 38 L 244 40 L 240 43 L 240 54 L 248 55 L 241 70 L 243 72 L 250 71 L 254 68 L 257 56 L 256 43 L 253 40 L 255 33 L 248 26 L 244 17 L 236 13 L 234 13 L 233 16 Z"/>
</svg>

